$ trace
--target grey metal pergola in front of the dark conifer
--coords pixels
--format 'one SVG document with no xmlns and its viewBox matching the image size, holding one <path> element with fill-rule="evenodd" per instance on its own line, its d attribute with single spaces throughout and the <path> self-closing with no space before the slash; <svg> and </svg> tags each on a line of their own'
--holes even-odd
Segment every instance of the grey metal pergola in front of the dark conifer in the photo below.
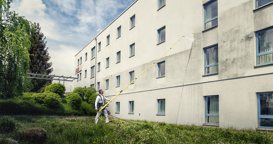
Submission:
<svg viewBox="0 0 273 144">
<path fill-rule="evenodd" d="M 42 76 L 42 77 L 35 77 L 35 76 Z M 78 80 L 78 77 L 64 77 L 63 75 L 62 76 L 56 76 L 55 74 L 54 75 L 49 75 L 49 74 L 34 74 L 34 73 L 28 73 L 28 77 L 29 78 L 39 78 L 39 79 L 46 79 L 46 80 L 57 80 L 59 81 L 63 81 L 63 84 L 65 81 L 73 81 L 75 79 Z M 58 78 L 54 78 L 54 77 L 58 77 Z M 60 79 L 62 78 L 62 79 Z"/>
</svg>

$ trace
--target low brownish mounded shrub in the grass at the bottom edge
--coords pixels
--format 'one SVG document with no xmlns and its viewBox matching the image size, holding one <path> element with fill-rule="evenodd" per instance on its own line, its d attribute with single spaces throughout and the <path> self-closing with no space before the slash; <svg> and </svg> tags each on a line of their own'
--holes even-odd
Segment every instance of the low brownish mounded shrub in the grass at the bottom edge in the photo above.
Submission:
<svg viewBox="0 0 273 144">
<path fill-rule="evenodd" d="M 28 128 L 19 132 L 21 141 L 41 143 L 46 139 L 46 130 L 42 128 Z"/>
</svg>

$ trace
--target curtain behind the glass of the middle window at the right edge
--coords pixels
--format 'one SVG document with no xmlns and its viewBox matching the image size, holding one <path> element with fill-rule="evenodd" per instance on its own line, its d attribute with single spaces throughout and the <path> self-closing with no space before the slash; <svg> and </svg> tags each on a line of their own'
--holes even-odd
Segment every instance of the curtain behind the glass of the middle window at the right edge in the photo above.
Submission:
<svg viewBox="0 0 273 144">
<path fill-rule="evenodd" d="M 273 51 L 273 29 L 258 33 L 259 53 Z M 258 64 L 273 62 L 273 53 L 258 56 Z"/>
</svg>

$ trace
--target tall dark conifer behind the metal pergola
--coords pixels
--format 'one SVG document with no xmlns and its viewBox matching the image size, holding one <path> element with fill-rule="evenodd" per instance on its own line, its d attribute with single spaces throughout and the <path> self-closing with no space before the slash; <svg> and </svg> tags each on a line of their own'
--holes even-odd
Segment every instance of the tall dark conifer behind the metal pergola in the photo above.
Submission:
<svg viewBox="0 0 273 144">
<path fill-rule="evenodd" d="M 39 23 L 32 24 L 31 27 L 31 44 L 29 48 L 29 72 L 37 74 L 51 74 L 53 68 L 50 56 L 48 53 L 48 47 L 46 47 L 47 41 L 45 40 L 44 34 L 41 32 L 41 27 Z M 42 76 L 37 76 L 42 77 Z M 38 92 L 47 83 L 52 83 L 52 80 L 45 79 L 29 79 L 33 84 L 34 88 L 31 89 L 32 92 Z"/>
</svg>

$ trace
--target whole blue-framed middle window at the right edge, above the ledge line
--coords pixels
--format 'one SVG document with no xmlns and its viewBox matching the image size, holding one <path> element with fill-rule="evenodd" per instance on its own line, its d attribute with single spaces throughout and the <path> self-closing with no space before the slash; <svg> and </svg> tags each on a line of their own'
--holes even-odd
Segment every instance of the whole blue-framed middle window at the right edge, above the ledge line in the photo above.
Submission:
<svg viewBox="0 0 273 144">
<path fill-rule="evenodd" d="M 273 27 L 256 33 L 257 65 L 273 62 Z"/>
</svg>

